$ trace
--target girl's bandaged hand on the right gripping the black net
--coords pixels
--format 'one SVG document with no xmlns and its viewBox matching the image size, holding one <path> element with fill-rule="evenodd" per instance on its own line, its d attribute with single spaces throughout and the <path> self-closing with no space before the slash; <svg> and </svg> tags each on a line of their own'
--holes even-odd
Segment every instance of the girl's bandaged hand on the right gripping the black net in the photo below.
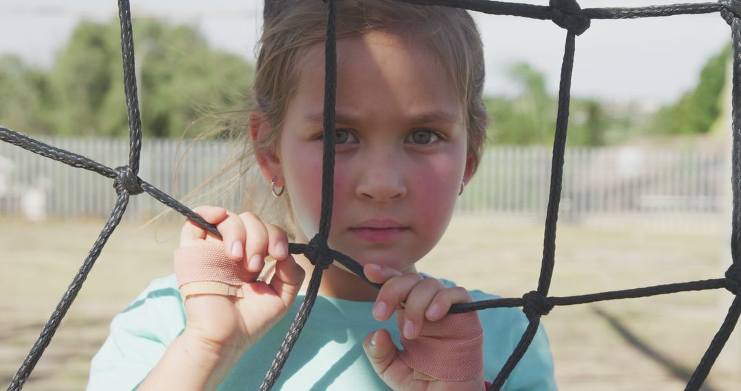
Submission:
<svg viewBox="0 0 741 391">
<path fill-rule="evenodd" d="M 393 312 L 399 308 L 403 311 L 396 313 L 399 330 L 402 332 L 402 344 L 406 340 L 416 338 L 439 338 L 437 335 L 428 335 L 425 329 L 431 329 L 430 322 L 445 322 L 444 319 L 452 304 L 470 303 L 473 301 L 471 295 L 462 287 L 445 287 L 442 282 L 434 278 L 423 278 L 417 273 L 402 274 L 391 267 L 383 267 L 376 264 L 366 264 L 363 272 L 369 280 L 384 284 L 379 291 L 376 304 L 373 307 L 373 316 L 379 321 L 391 318 Z M 405 304 L 402 304 L 405 302 Z M 468 344 L 473 341 L 476 349 L 466 352 L 469 357 L 478 355 L 473 361 L 473 378 L 464 381 L 443 380 L 420 380 L 419 372 L 410 367 L 399 355 L 396 346 L 391 341 L 391 335 L 386 330 L 371 332 L 365 338 L 363 346 L 366 355 L 371 361 L 376 373 L 392 390 L 484 390 L 484 372 L 482 366 L 482 335 L 481 325 L 476 313 L 451 314 L 449 316 L 467 316 L 468 321 L 463 322 L 464 327 L 456 330 L 454 337 L 468 339 Z M 471 316 L 475 320 L 471 321 Z M 442 324 L 442 322 L 440 322 Z M 423 328 L 423 325 L 428 326 Z M 437 349 L 440 350 L 440 349 Z M 449 351 L 409 351 L 410 355 L 422 358 L 423 361 L 441 361 L 441 364 L 450 364 L 453 358 Z M 402 353 L 403 355 L 403 353 Z M 479 360 L 480 359 L 480 360 Z M 460 363 L 455 363 L 459 365 Z M 438 366 L 439 365 L 435 365 Z M 428 373 L 428 375 L 432 375 Z"/>
</svg>

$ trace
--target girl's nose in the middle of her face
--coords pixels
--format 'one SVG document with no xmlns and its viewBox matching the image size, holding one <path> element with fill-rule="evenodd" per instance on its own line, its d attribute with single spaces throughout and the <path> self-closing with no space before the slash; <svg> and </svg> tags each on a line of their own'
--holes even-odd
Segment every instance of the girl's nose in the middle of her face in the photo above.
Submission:
<svg viewBox="0 0 741 391">
<path fill-rule="evenodd" d="M 356 195 L 373 201 L 391 201 L 402 199 L 407 195 L 404 176 L 398 164 L 389 158 L 385 161 L 373 159 L 373 162 L 360 167 Z"/>
</svg>

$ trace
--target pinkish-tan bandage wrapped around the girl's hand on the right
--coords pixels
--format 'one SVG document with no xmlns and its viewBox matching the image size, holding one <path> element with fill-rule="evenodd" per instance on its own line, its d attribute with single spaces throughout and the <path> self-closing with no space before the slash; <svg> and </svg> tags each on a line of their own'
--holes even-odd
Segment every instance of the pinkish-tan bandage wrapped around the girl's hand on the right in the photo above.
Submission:
<svg viewBox="0 0 741 391">
<path fill-rule="evenodd" d="M 396 310 L 399 329 L 402 321 L 404 310 Z M 414 378 L 467 381 L 484 370 L 484 332 L 475 311 L 425 320 L 419 336 L 407 339 L 402 333 L 401 342 L 399 358 L 414 369 Z"/>
</svg>

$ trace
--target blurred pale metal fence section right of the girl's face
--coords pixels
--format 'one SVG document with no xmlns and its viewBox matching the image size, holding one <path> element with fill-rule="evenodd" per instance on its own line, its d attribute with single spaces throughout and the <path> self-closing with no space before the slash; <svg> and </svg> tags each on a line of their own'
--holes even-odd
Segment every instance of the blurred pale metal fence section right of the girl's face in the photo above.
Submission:
<svg viewBox="0 0 741 391">
<path fill-rule="evenodd" d="M 700 148 L 566 150 L 561 214 L 721 213 L 725 161 L 724 151 Z M 542 215 L 550 173 L 551 150 L 489 148 L 458 210 Z"/>
</svg>

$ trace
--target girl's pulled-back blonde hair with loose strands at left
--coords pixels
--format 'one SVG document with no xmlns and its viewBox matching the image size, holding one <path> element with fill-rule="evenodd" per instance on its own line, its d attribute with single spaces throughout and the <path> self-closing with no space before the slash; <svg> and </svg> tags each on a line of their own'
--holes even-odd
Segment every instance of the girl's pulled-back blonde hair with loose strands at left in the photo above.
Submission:
<svg viewBox="0 0 741 391">
<path fill-rule="evenodd" d="M 243 146 L 225 170 L 239 167 L 235 183 L 245 184 L 245 173 L 256 165 L 254 151 L 276 153 L 288 104 L 296 93 L 299 65 L 309 47 L 325 42 L 327 4 L 322 0 L 266 0 L 265 21 L 258 43 L 253 99 L 272 130 L 253 144 L 245 126 L 230 124 L 232 145 Z M 337 1 L 337 39 L 365 33 L 391 33 L 412 44 L 424 44 L 447 70 L 456 87 L 468 130 L 468 156 L 477 167 L 485 144 L 488 118 L 482 99 L 484 59 L 481 36 L 467 11 L 451 7 L 420 6 L 399 0 Z M 217 173 L 221 176 L 223 171 Z M 290 185 L 290 184 L 289 184 Z M 262 195 L 244 193 L 243 210 L 252 210 L 290 232 L 290 200 L 256 204 Z M 257 188 L 259 186 L 250 186 Z M 282 204 L 281 204 L 282 202 Z M 272 209 L 272 210 L 270 210 Z"/>
</svg>

